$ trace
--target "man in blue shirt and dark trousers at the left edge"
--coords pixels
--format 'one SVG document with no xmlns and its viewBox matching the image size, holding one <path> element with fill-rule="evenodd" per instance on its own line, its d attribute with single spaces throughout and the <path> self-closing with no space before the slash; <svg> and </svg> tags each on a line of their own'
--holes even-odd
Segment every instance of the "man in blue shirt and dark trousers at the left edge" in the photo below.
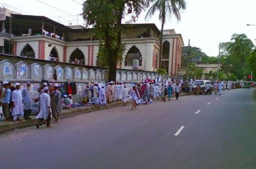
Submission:
<svg viewBox="0 0 256 169">
<path fill-rule="evenodd" d="M 11 90 L 8 87 L 7 81 L 3 82 L 3 88 L 5 88 L 5 91 L 3 92 L 3 99 L 2 99 L 2 109 L 3 109 L 3 115 L 5 116 L 5 120 L 10 120 L 10 101 L 11 101 Z"/>
</svg>

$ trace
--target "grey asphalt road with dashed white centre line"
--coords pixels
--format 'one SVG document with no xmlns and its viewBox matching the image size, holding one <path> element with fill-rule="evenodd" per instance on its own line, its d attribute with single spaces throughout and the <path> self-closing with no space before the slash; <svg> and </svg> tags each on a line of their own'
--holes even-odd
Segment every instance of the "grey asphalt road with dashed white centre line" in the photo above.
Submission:
<svg viewBox="0 0 256 169">
<path fill-rule="evenodd" d="M 256 168 L 253 93 L 184 96 L 8 132 L 0 168 Z"/>
</svg>

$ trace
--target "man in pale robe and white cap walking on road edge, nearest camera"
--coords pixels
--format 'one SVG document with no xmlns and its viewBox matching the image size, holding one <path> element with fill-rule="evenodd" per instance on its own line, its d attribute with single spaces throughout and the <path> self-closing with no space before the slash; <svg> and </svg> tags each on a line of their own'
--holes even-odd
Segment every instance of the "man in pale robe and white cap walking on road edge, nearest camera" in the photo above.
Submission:
<svg viewBox="0 0 256 169">
<path fill-rule="evenodd" d="M 39 125 L 42 126 L 44 121 L 46 121 L 46 127 L 49 128 L 51 121 L 51 104 L 50 104 L 50 95 L 48 95 L 49 88 L 44 87 L 44 93 L 40 95 L 39 106 L 40 112 L 37 115 L 38 122 L 36 127 L 39 128 Z"/>
</svg>

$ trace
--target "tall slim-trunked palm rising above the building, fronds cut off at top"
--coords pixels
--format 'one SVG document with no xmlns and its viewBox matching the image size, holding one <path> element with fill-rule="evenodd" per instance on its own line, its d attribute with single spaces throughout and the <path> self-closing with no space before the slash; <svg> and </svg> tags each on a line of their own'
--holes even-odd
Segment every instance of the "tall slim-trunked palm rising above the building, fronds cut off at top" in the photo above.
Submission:
<svg viewBox="0 0 256 169">
<path fill-rule="evenodd" d="M 152 4 L 152 5 L 151 5 Z M 151 7 L 150 7 L 151 6 Z M 146 0 L 147 11 L 145 19 L 150 18 L 159 12 L 159 20 L 161 21 L 161 34 L 160 34 L 160 52 L 159 52 L 159 69 L 162 68 L 162 48 L 163 48 L 163 26 L 166 23 L 168 17 L 174 15 L 177 21 L 181 20 L 180 10 L 185 10 L 186 2 L 184 0 Z"/>
</svg>

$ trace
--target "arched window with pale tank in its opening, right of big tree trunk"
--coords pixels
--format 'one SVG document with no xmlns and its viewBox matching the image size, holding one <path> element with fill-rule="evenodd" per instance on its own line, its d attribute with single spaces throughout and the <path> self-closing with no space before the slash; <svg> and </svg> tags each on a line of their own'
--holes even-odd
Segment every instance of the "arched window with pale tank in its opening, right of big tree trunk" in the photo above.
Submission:
<svg viewBox="0 0 256 169">
<path fill-rule="evenodd" d="M 130 50 L 127 52 L 125 57 L 125 66 L 132 66 L 133 60 L 139 60 L 139 66 L 142 66 L 142 56 L 140 50 L 136 46 L 132 46 Z"/>
</svg>

